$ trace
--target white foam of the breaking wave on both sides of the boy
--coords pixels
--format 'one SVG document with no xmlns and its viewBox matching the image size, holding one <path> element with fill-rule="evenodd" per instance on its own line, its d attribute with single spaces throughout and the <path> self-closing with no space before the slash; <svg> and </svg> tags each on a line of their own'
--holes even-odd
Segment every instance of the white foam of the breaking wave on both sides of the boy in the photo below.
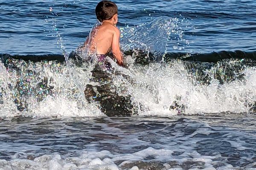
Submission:
<svg viewBox="0 0 256 170">
<path fill-rule="evenodd" d="M 147 66 L 131 64 L 129 69 L 121 68 L 112 62 L 116 71 L 128 75 L 125 79 L 120 75 L 113 77 L 119 95 L 131 95 L 133 104 L 143 105 L 139 115 L 175 115 L 178 110 L 170 109 L 176 101 L 184 106 L 184 113 L 219 113 L 219 112 L 249 112 L 250 103 L 256 101 L 256 68 L 249 67 L 243 71 L 244 79 L 236 79 L 222 85 L 212 77 L 209 85 L 194 85 L 194 78 L 188 74 L 182 62 L 168 64 L 154 63 Z M 39 69 L 38 69 L 39 68 Z M 97 103 L 87 103 L 83 96 L 83 87 L 90 82 L 90 70 L 72 69 L 67 66 L 51 68 L 38 66 L 38 76 L 29 76 L 26 69 L 21 77 L 17 72 L 6 72 L 1 64 L 0 79 L 3 104 L 1 116 L 20 114 L 13 102 L 15 85 L 19 79 L 29 79 L 31 88 L 36 88 L 44 77 L 51 77 L 49 85 L 54 86 L 53 93 L 37 102 L 40 91 L 31 91 L 30 96 L 23 99 L 28 110 L 23 115 L 32 116 L 103 116 Z M 58 68 L 58 72 L 56 69 Z M 76 75 L 74 78 L 73 75 Z M 131 81 L 132 80 L 132 81 Z M 77 85 L 79 83 L 79 85 Z M 95 84 L 95 83 L 94 83 Z M 12 85 L 12 89 L 10 89 Z M 42 89 L 41 89 L 42 90 Z M 28 91 L 28 90 L 27 90 Z M 17 91 L 16 91 L 17 92 Z"/>
</svg>

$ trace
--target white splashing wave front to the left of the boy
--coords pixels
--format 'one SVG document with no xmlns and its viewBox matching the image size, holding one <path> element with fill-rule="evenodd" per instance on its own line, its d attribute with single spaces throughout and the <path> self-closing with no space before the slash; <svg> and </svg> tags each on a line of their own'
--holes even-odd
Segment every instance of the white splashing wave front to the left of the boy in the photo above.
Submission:
<svg viewBox="0 0 256 170">
<path fill-rule="evenodd" d="M 8 72 L 1 63 L 1 116 L 96 116 L 96 105 L 86 105 L 81 98 L 81 85 L 89 82 L 90 72 L 70 75 L 70 67 L 56 62 L 9 61 Z M 76 68 L 76 72 L 81 68 Z"/>
</svg>

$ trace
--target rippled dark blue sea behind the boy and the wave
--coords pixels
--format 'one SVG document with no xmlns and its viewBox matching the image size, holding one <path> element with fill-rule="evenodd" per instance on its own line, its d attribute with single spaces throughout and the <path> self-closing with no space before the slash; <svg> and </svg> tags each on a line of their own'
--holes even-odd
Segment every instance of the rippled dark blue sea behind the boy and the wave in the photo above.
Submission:
<svg viewBox="0 0 256 170">
<path fill-rule="evenodd" d="M 61 53 L 58 34 L 68 51 L 75 50 L 96 22 L 97 2 L 0 1 L 0 52 L 58 54 Z M 253 0 L 117 0 L 116 3 L 119 27 L 138 26 L 163 16 L 179 19 L 183 38 L 189 41 L 183 51 L 256 50 L 256 3 Z M 168 51 L 177 51 L 173 49 L 173 41 L 176 40 L 168 40 Z"/>
</svg>

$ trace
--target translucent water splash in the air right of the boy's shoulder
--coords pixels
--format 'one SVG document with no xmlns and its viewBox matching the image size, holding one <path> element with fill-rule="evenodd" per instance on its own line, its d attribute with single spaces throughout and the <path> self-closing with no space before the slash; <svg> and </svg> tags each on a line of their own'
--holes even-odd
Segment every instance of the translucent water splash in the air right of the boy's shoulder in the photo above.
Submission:
<svg viewBox="0 0 256 170">
<path fill-rule="evenodd" d="M 123 50 L 142 50 L 154 56 L 166 52 L 167 42 L 171 42 L 175 50 L 182 50 L 189 41 L 183 38 L 178 18 L 158 17 L 151 23 L 136 27 L 119 28 L 121 30 L 121 46 Z"/>
</svg>

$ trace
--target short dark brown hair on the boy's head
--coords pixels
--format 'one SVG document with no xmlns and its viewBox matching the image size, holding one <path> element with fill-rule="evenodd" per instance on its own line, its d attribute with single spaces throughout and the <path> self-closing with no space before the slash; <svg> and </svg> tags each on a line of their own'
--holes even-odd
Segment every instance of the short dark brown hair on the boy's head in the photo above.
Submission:
<svg viewBox="0 0 256 170">
<path fill-rule="evenodd" d="M 117 6 L 110 0 L 102 0 L 95 8 L 96 17 L 99 22 L 104 20 L 110 20 L 115 14 L 117 14 Z"/>
</svg>

